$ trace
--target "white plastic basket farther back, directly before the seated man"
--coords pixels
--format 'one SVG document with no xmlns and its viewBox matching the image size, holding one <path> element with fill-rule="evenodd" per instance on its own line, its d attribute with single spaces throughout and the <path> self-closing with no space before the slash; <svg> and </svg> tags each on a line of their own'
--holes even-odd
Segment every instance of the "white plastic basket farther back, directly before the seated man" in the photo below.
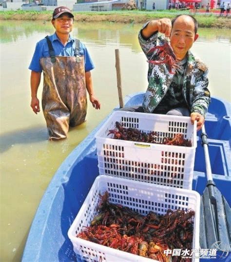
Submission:
<svg viewBox="0 0 231 262">
<path fill-rule="evenodd" d="M 183 134 L 192 147 L 112 139 L 108 133 L 116 121 L 126 128 L 154 131 L 159 142 Z M 99 174 L 192 189 L 196 145 L 196 124 L 190 117 L 116 111 L 96 133 Z"/>
</svg>

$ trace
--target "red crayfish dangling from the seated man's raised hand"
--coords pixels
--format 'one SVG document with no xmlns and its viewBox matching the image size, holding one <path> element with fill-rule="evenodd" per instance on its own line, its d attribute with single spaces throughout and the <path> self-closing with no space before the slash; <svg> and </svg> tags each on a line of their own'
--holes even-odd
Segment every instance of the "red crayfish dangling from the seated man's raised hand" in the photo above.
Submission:
<svg viewBox="0 0 231 262">
<path fill-rule="evenodd" d="M 180 68 L 177 64 L 176 56 L 170 43 L 165 40 L 163 45 L 157 45 L 148 51 L 148 54 L 154 54 L 158 60 L 148 60 L 152 64 L 166 64 L 170 74 L 174 74 L 173 69 L 176 71 Z"/>
</svg>

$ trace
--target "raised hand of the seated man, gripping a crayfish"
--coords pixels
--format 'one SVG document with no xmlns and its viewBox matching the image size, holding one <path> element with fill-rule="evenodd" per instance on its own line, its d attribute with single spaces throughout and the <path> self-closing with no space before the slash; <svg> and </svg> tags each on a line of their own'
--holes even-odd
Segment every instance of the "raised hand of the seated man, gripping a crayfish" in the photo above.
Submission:
<svg viewBox="0 0 231 262">
<path fill-rule="evenodd" d="M 142 30 L 142 36 L 144 38 L 150 38 L 154 32 L 160 32 L 165 34 L 166 37 L 170 37 L 172 31 L 172 21 L 168 18 L 161 18 L 159 20 L 152 20 Z"/>
</svg>

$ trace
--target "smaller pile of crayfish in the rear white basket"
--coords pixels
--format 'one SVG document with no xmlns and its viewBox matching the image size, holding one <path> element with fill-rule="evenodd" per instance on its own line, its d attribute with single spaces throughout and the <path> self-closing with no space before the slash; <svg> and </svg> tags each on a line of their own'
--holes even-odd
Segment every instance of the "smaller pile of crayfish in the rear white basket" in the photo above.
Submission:
<svg viewBox="0 0 231 262">
<path fill-rule="evenodd" d="M 179 146 L 192 146 L 192 142 L 188 139 L 184 139 L 183 134 L 175 134 L 173 138 L 164 137 L 162 141 L 159 139 L 159 135 L 156 132 L 145 133 L 136 128 L 123 127 L 118 121 L 116 121 L 116 128 L 109 130 L 108 135 L 113 134 L 113 139 L 146 142 L 155 144 L 167 144 L 167 145 L 179 145 Z"/>
</svg>

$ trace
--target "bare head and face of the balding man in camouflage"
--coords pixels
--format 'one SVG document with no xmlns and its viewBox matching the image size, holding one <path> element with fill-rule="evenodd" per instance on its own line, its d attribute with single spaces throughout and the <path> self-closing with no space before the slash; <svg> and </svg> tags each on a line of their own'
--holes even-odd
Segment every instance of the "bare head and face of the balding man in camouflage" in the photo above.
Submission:
<svg viewBox="0 0 231 262">
<path fill-rule="evenodd" d="M 170 36 L 170 42 L 178 60 L 183 60 L 185 58 L 187 52 L 197 38 L 198 34 L 195 34 L 192 18 L 181 16 L 175 20 Z"/>
</svg>

